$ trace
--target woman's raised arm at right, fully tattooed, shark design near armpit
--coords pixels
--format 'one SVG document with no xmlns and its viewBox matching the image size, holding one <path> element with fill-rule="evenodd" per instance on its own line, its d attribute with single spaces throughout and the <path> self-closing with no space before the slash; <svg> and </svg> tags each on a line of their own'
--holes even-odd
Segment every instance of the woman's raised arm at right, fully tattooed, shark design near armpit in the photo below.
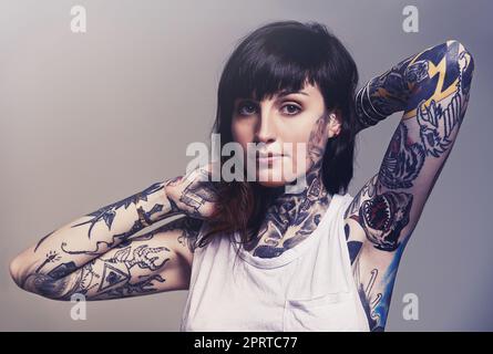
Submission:
<svg viewBox="0 0 493 354">
<path fill-rule="evenodd" d="M 404 111 L 379 173 L 346 211 L 355 279 L 370 327 L 383 330 L 397 268 L 464 117 L 474 61 L 458 41 L 429 48 L 369 81 L 360 128 Z"/>
</svg>

